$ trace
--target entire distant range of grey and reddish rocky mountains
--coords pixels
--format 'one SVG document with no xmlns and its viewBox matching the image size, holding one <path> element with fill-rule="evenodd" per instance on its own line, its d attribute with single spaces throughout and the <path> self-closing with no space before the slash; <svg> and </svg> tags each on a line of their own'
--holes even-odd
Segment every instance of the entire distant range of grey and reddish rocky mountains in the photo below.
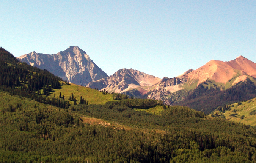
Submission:
<svg viewBox="0 0 256 163">
<path fill-rule="evenodd" d="M 47 69 L 78 85 L 138 98 L 162 100 L 167 105 L 185 105 L 197 110 L 204 109 L 204 112 L 210 112 L 215 106 L 220 105 L 220 102 L 207 104 L 205 101 L 206 98 L 208 101 L 217 98 L 217 94 L 218 98 L 225 97 L 226 103 L 249 100 L 248 98 L 256 95 L 256 64 L 243 56 L 229 62 L 211 60 L 196 70 L 189 69 L 182 75 L 174 78 L 164 77 L 162 80 L 134 69 L 120 69 L 108 77 L 86 52 L 77 46 L 52 55 L 31 52 L 18 59 L 32 66 Z M 229 89 L 229 92 L 239 90 L 236 94 L 244 93 L 240 90 L 240 83 L 245 83 L 249 90 L 248 95 L 227 97 L 228 93 L 225 90 Z M 239 85 L 241 88 L 238 89 Z M 213 92 L 215 95 L 212 95 Z M 229 96 L 232 95 L 229 93 Z M 208 108 L 203 108 L 204 106 Z"/>
</svg>

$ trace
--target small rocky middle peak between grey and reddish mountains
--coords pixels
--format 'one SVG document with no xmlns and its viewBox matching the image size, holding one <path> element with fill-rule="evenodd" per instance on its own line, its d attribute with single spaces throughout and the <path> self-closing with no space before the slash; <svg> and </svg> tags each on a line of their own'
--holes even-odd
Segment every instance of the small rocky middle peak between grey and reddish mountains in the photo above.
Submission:
<svg viewBox="0 0 256 163">
<path fill-rule="evenodd" d="M 100 80 L 90 82 L 90 88 L 105 89 L 108 92 L 123 93 L 130 90 L 138 90 L 141 95 L 148 92 L 148 88 L 161 81 L 160 78 L 145 74 L 134 69 L 120 69 L 113 75 Z"/>
</svg>

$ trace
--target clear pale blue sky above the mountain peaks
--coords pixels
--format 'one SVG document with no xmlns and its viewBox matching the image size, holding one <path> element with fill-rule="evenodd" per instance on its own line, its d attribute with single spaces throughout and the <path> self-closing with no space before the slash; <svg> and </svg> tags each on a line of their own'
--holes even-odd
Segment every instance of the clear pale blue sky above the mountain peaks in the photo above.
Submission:
<svg viewBox="0 0 256 163">
<path fill-rule="evenodd" d="M 108 75 L 171 78 L 212 59 L 256 62 L 256 1 L 0 0 L 0 46 L 16 57 L 79 46 Z"/>
</svg>

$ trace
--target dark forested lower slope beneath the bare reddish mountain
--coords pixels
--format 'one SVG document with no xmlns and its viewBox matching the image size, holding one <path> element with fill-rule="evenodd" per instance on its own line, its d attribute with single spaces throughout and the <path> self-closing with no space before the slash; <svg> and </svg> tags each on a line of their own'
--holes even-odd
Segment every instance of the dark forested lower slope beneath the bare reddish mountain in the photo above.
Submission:
<svg viewBox="0 0 256 163">
<path fill-rule="evenodd" d="M 210 114 L 218 106 L 225 106 L 239 101 L 247 101 L 256 96 L 256 86 L 250 79 L 239 82 L 231 88 L 220 90 L 218 87 L 204 87 L 199 84 L 185 99 L 174 105 L 188 106 L 197 111 Z"/>
</svg>

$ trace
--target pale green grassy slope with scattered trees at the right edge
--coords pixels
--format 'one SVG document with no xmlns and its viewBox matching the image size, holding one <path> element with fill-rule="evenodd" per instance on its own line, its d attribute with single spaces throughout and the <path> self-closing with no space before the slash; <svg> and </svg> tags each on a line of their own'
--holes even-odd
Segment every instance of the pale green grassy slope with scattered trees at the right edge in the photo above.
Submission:
<svg viewBox="0 0 256 163">
<path fill-rule="evenodd" d="M 239 105 L 237 107 L 236 105 L 237 103 L 234 103 L 234 107 L 231 107 L 230 111 L 225 111 L 224 116 L 226 117 L 226 119 L 235 121 L 235 122 L 241 122 L 246 125 L 256 126 L 256 115 L 249 114 L 251 111 L 256 110 L 256 98 L 251 99 L 251 101 L 248 100 L 248 101 L 242 102 L 242 105 Z M 230 114 L 234 114 L 234 112 L 232 112 L 234 109 L 236 109 L 237 115 L 229 116 Z M 214 111 L 214 114 L 216 112 L 217 112 L 217 109 Z M 242 115 L 245 115 L 244 119 L 240 118 Z"/>
</svg>

